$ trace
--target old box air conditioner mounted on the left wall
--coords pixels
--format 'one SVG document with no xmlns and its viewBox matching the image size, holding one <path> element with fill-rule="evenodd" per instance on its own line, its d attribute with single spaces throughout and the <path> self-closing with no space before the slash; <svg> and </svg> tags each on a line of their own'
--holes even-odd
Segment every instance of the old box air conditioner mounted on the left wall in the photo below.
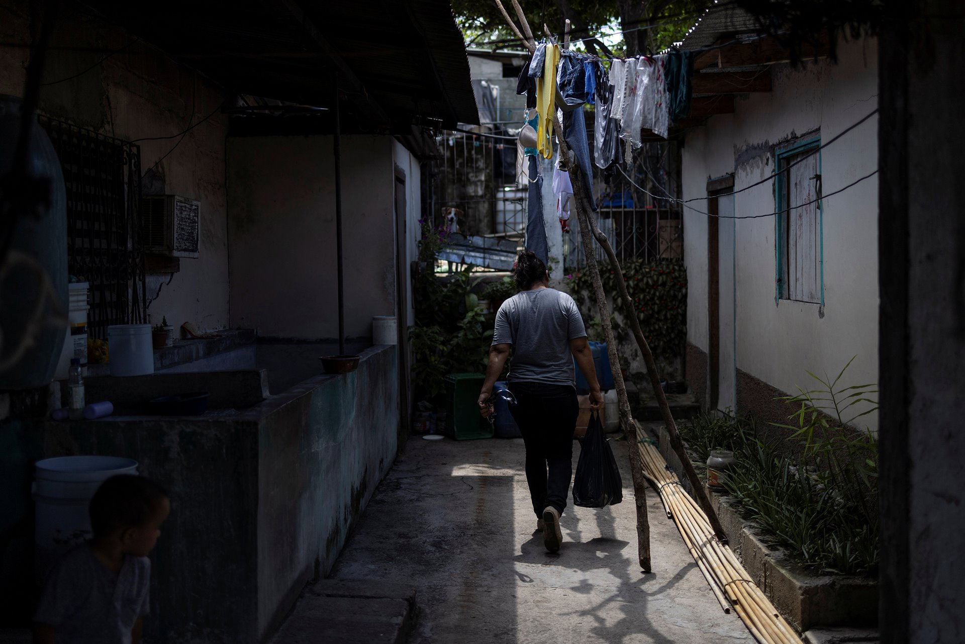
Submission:
<svg viewBox="0 0 965 644">
<path fill-rule="evenodd" d="M 141 198 L 144 250 L 173 257 L 198 257 L 201 202 L 173 194 Z"/>
</svg>

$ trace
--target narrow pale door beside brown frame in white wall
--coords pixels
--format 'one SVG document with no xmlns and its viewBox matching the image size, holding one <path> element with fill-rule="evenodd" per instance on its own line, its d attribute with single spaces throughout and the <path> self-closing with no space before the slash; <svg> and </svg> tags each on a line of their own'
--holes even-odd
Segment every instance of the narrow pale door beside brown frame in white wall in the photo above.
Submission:
<svg viewBox="0 0 965 644">
<path fill-rule="evenodd" d="M 733 217 L 733 195 L 717 197 L 718 238 L 718 298 L 719 320 L 719 359 L 717 363 L 718 391 L 717 408 L 736 409 L 736 369 L 734 347 L 734 306 L 736 303 L 736 284 L 734 280 L 734 235 L 736 220 Z M 729 218 L 730 217 L 730 218 Z"/>
</svg>

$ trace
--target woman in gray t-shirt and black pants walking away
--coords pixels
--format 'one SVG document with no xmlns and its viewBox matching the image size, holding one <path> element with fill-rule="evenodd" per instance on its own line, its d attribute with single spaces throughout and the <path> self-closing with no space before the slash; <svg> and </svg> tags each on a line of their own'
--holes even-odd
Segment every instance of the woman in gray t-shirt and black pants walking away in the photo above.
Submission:
<svg viewBox="0 0 965 644">
<path fill-rule="evenodd" d="M 515 405 L 512 417 L 526 444 L 526 481 L 533 497 L 537 529 L 550 552 L 560 549 L 560 515 L 566 507 L 572 477 L 576 401 L 573 358 L 590 384 L 590 406 L 603 404 L 593 368 L 587 331 L 568 294 L 549 288 L 546 266 L 533 251 L 521 252 L 512 269 L 520 292 L 503 302 L 489 348 L 479 406 L 493 413 L 492 386 L 510 356 L 509 388 Z"/>
</svg>

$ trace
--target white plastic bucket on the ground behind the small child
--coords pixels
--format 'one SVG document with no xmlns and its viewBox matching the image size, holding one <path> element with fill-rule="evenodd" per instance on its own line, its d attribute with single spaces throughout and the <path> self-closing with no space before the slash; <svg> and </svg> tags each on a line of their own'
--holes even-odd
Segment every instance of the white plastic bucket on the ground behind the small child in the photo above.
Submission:
<svg viewBox="0 0 965 644">
<path fill-rule="evenodd" d="M 137 474 L 137 462 L 112 456 L 65 456 L 35 463 L 34 543 L 39 580 L 59 554 L 91 537 L 91 497 L 115 474 Z"/>
</svg>

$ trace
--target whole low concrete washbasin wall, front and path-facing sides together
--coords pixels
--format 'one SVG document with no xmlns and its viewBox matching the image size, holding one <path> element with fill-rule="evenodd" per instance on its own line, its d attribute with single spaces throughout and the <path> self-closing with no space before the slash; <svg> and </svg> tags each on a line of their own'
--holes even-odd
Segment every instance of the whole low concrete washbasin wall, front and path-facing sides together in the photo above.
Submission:
<svg viewBox="0 0 965 644">
<path fill-rule="evenodd" d="M 170 387 L 171 378 L 197 377 L 164 378 Z M 17 431 L 33 446 L 32 459 L 124 456 L 171 494 L 171 516 L 151 555 L 147 641 L 256 644 L 280 624 L 307 580 L 328 573 L 395 459 L 396 349 L 364 350 L 358 371 L 310 378 L 254 406 L 261 375 L 208 378 L 238 397 L 232 403 L 222 396 L 215 414 L 35 420 Z M 231 386 L 237 382 L 248 384 Z M 233 404 L 239 408 L 225 408 Z M 11 474 L 20 492 L 14 501 L 22 505 L 30 472 Z M 33 530 L 23 539 L 32 543 Z M 29 554 L 21 568 L 32 577 Z M 29 619 L 29 582 L 10 588 Z"/>
</svg>

